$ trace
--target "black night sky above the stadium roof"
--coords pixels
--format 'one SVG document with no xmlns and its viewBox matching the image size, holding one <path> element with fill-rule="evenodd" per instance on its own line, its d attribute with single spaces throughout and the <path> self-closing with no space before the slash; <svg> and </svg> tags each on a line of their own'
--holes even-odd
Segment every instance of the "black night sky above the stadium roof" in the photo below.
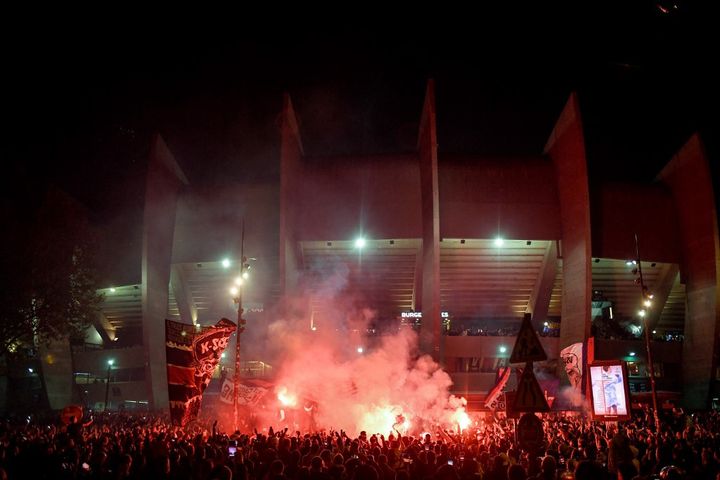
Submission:
<svg viewBox="0 0 720 480">
<path fill-rule="evenodd" d="M 155 131 L 191 183 L 275 180 L 283 91 L 310 155 L 412 150 L 431 77 L 441 152 L 540 153 L 577 90 L 591 181 L 651 180 L 693 131 L 714 148 L 720 42 L 698 3 L 33 24 L 3 47 L 5 191 L 55 183 L 111 216 L 141 202 Z"/>
</svg>

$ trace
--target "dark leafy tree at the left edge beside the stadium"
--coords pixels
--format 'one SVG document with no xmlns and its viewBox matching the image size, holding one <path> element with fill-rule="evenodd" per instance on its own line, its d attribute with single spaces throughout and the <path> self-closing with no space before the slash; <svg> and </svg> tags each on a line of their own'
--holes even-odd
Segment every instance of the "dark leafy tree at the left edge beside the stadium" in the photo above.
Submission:
<svg viewBox="0 0 720 480">
<path fill-rule="evenodd" d="M 24 208 L 23 208 L 24 207 Z M 84 209 L 50 189 L 39 205 L 4 212 L 0 355 L 29 354 L 41 343 L 84 338 L 100 308 L 94 234 Z"/>
</svg>

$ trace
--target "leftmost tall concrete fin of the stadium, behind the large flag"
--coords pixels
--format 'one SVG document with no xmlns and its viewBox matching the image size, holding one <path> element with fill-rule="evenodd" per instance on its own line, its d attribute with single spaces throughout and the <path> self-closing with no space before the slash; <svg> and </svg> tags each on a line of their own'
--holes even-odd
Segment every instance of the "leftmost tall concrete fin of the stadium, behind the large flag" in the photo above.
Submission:
<svg viewBox="0 0 720 480">
<path fill-rule="evenodd" d="M 143 217 L 142 316 L 148 401 L 168 407 L 165 317 L 168 306 L 175 212 L 185 174 L 157 135 L 148 162 Z"/>
</svg>

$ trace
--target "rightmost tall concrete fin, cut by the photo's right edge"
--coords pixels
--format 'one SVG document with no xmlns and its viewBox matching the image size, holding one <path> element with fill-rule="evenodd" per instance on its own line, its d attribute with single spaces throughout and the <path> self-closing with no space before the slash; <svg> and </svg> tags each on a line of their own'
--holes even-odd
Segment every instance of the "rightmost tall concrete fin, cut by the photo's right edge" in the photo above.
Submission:
<svg viewBox="0 0 720 480">
<path fill-rule="evenodd" d="M 697 134 L 659 175 L 672 191 L 680 231 L 680 279 L 686 285 L 683 401 L 710 406 L 716 388 L 720 334 L 720 245 L 712 176 Z"/>
</svg>

